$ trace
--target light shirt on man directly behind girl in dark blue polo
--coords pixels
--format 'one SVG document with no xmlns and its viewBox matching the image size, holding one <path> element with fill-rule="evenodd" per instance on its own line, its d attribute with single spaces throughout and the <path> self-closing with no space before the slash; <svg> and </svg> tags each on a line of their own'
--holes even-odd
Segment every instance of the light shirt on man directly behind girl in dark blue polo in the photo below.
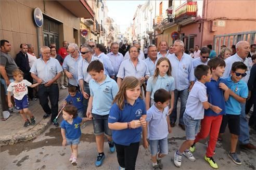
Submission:
<svg viewBox="0 0 256 170">
<path fill-rule="evenodd" d="M 138 59 L 137 66 L 134 67 L 131 59 L 127 59 L 123 60 L 123 62 L 121 63 L 117 77 L 124 79 L 124 77 L 127 76 L 134 76 L 137 79 L 141 79 L 146 75 L 149 76 L 149 71 L 146 62 Z"/>
</svg>

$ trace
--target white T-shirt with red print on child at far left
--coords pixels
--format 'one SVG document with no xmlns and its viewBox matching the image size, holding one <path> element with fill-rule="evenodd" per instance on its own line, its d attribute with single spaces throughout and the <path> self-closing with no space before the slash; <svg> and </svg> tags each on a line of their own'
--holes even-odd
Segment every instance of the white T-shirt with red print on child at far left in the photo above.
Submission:
<svg viewBox="0 0 256 170">
<path fill-rule="evenodd" d="M 28 86 L 32 84 L 27 80 L 22 80 L 21 82 L 12 82 L 7 88 L 7 91 L 12 91 L 14 98 L 21 100 L 25 95 L 28 94 Z"/>
</svg>

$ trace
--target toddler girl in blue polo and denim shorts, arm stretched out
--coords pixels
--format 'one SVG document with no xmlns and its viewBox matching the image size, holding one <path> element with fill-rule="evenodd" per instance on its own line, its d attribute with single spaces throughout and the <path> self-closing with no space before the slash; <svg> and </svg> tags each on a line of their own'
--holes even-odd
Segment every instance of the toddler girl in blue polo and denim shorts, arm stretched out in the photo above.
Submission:
<svg viewBox="0 0 256 170">
<path fill-rule="evenodd" d="M 72 165 L 76 165 L 78 159 L 78 144 L 81 136 L 79 123 L 92 120 L 92 117 L 81 118 L 78 116 L 78 109 L 72 104 L 63 108 L 63 121 L 60 124 L 61 135 L 63 138 L 62 146 L 70 145 L 71 157 L 69 161 Z"/>
</svg>

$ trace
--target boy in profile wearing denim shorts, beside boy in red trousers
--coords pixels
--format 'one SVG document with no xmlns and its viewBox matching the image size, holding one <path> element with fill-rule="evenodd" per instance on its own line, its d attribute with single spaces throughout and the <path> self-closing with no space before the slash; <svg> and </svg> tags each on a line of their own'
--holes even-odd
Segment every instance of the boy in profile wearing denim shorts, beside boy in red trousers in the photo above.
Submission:
<svg viewBox="0 0 256 170">
<path fill-rule="evenodd" d="M 196 161 L 189 148 L 193 145 L 196 134 L 198 133 L 200 121 L 203 119 L 204 109 L 211 109 L 213 107 L 208 102 L 206 86 L 204 85 L 206 82 L 211 81 L 212 74 L 210 67 L 200 64 L 195 69 L 195 76 L 198 81 L 196 81 L 188 95 L 186 110 L 183 114 L 186 141 L 182 143 L 180 149 L 174 154 L 174 164 L 177 167 L 181 166 L 182 155 L 185 155 L 190 161 Z M 220 113 L 221 111 L 222 109 L 216 106 L 216 112 Z"/>
</svg>

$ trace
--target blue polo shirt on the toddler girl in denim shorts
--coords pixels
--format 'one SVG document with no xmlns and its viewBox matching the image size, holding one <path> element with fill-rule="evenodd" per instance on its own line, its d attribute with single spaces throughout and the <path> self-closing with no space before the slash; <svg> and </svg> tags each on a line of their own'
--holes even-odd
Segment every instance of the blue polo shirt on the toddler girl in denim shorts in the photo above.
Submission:
<svg viewBox="0 0 256 170">
<path fill-rule="evenodd" d="M 79 123 L 82 122 L 81 117 L 75 117 L 72 124 L 69 124 L 67 121 L 63 120 L 60 124 L 62 129 L 65 129 L 66 138 L 68 139 L 77 139 L 81 136 L 81 129 Z"/>
</svg>

